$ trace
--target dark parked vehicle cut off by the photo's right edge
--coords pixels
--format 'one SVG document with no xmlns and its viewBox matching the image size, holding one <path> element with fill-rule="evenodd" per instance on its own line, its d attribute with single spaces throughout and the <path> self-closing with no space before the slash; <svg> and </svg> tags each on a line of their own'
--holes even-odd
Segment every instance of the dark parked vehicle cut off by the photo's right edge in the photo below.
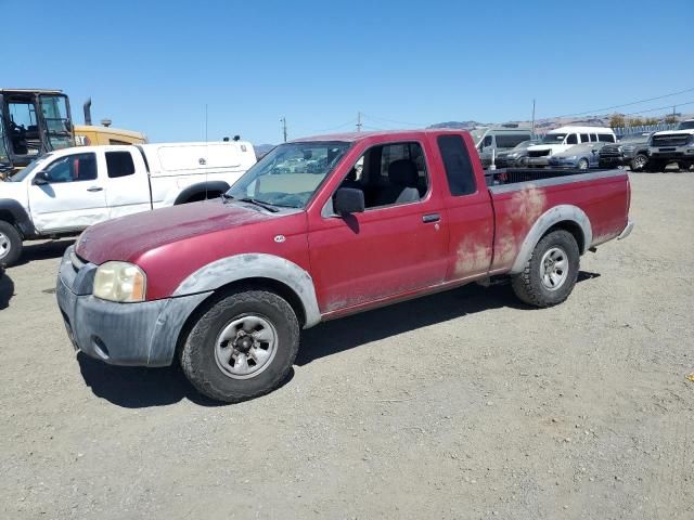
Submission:
<svg viewBox="0 0 694 520">
<path fill-rule="evenodd" d="M 655 132 L 648 141 L 648 170 L 663 171 L 670 162 L 680 170 L 694 165 L 694 119 L 680 122 L 674 130 Z"/>
</svg>

